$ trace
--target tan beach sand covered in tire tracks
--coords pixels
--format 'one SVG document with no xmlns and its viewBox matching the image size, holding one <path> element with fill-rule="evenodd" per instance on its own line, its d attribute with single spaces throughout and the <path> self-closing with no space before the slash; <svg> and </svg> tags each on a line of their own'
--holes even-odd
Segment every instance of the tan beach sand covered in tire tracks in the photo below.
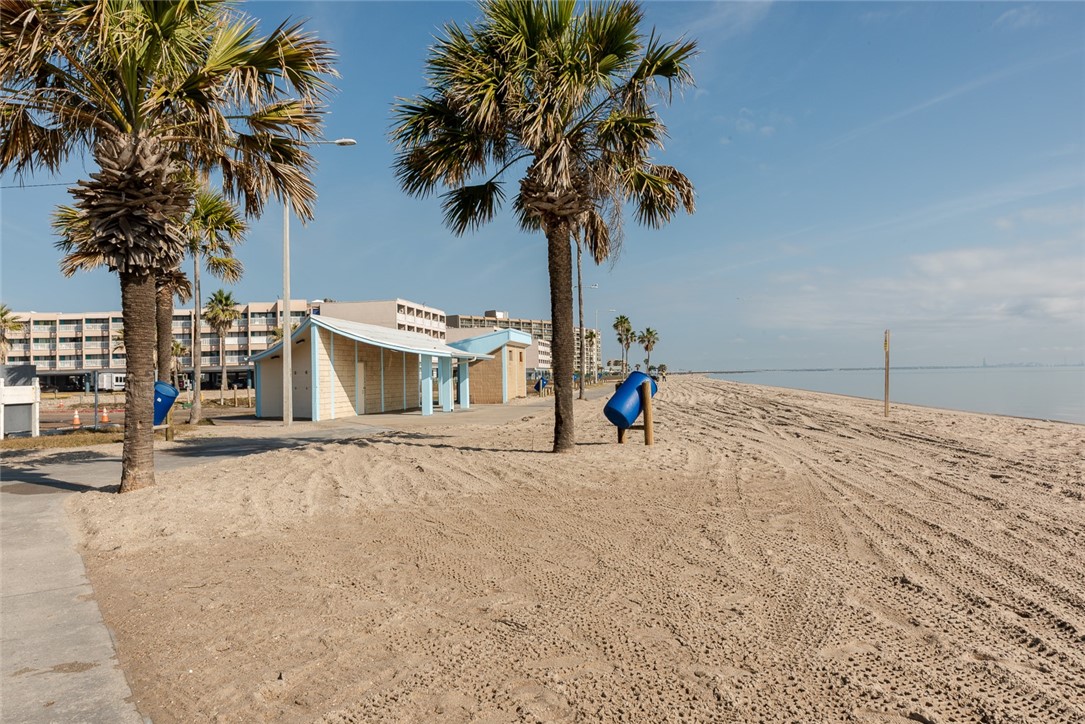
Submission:
<svg viewBox="0 0 1085 724">
<path fill-rule="evenodd" d="M 672 376 L 620 446 L 602 404 L 574 455 L 533 408 L 73 496 L 140 710 L 1085 721 L 1081 425 Z"/>
</svg>

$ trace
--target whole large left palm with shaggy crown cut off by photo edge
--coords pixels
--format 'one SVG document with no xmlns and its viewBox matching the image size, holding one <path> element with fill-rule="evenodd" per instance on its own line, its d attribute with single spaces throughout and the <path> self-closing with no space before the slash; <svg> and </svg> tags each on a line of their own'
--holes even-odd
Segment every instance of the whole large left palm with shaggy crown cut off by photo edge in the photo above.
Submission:
<svg viewBox="0 0 1085 724">
<path fill-rule="evenodd" d="M 219 0 L 3 0 L 0 172 L 55 173 L 81 152 L 98 165 L 72 189 L 86 224 L 69 241 L 74 264 L 101 258 L 120 281 L 120 492 L 154 484 L 155 277 L 184 253 L 189 178 L 218 168 L 247 213 L 273 193 L 309 218 L 332 60 L 299 23 L 261 38 Z"/>
</svg>

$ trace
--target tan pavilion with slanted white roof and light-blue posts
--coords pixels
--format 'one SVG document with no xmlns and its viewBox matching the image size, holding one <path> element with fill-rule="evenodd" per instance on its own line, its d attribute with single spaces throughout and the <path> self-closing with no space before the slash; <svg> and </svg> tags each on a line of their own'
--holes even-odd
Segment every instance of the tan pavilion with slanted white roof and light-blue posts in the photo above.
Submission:
<svg viewBox="0 0 1085 724">
<path fill-rule="evenodd" d="M 291 335 L 294 417 L 333 420 L 421 408 L 433 414 L 433 370 L 438 405 L 452 411 L 452 363 L 460 363 L 460 408 L 471 401 L 470 363 L 488 355 L 446 345 L 427 334 L 324 315 L 307 317 Z M 253 357 L 256 417 L 282 417 L 282 345 Z M 425 393 L 429 394 L 425 394 Z"/>
</svg>

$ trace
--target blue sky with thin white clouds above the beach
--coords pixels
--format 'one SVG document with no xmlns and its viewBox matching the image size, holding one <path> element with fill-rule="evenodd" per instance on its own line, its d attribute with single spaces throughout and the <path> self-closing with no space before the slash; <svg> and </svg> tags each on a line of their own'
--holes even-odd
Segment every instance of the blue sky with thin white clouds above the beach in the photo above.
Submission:
<svg viewBox="0 0 1085 724">
<path fill-rule="evenodd" d="M 662 230 L 627 219 L 620 258 L 585 267 L 598 284 L 587 325 L 625 314 L 654 328 L 652 359 L 672 369 L 877 366 L 885 328 L 899 365 L 1085 359 L 1085 3 L 644 8 L 664 37 L 700 43 L 697 87 L 661 109 L 659 154 L 693 180 L 698 209 Z M 327 137 L 358 140 L 317 150 L 317 218 L 292 227 L 292 295 L 548 317 L 541 236 L 505 213 L 455 237 L 439 202 L 406 196 L 390 168 L 393 99 L 423 90 L 433 36 L 476 8 L 245 10 L 268 29 L 309 17 L 335 47 Z M 78 161 L 26 183 L 92 170 Z M 58 271 L 49 215 L 65 188 L 0 180 L 0 300 L 119 308 L 115 277 Z M 281 295 L 280 209 L 240 249 L 241 300 Z M 603 348 L 616 356 L 612 333 Z"/>
</svg>

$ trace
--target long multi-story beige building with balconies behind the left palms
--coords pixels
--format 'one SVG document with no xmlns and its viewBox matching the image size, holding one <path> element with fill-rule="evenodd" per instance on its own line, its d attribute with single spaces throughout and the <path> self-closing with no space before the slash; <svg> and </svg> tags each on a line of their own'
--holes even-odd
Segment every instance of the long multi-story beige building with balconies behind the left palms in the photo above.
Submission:
<svg viewBox="0 0 1085 724">
<path fill-rule="evenodd" d="M 305 300 L 291 300 L 291 317 L 296 322 L 309 314 Z M 282 301 L 239 305 L 241 318 L 226 334 L 226 369 L 233 383 L 244 384 L 248 358 L 271 345 L 269 333 L 282 326 Z M 88 372 L 123 372 L 125 369 L 124 320 L 120 312 L 42 313 L 15 312 L 23 329 L 12 332 L 9 365 L 35 365 L 42 384 L 60 388 L 82 386 Z M 202 371 L 217 383 L 221 374 L 218 334 L 203 321 L 200 330 Z M 188 354 L 178 359 L 183 374 L 192 373 L 191 308 L 174 309 L 174 339 Z M 167 378 L 168 373 L 159 374 Z"/>
</svg>

